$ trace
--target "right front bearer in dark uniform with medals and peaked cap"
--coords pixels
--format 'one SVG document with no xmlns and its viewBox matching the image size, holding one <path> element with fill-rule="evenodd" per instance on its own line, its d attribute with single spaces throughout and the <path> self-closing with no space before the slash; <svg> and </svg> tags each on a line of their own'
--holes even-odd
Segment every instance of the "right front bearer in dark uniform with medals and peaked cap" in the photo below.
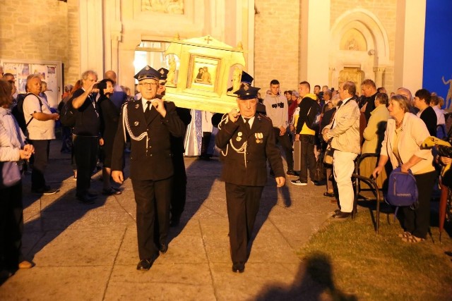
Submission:
<svg viewBox="0 0 452 301">
<path fill-rule="evenodd" d="M 242 86 L 237 94 L 239 112 L 232 109 L 218 125 L 215 144 L 222 149 L 232 271 L 242 273 L 247 246 L 267 181 L 266 161 L 275 173 L 277 187 L 285 184 L 283 160 L 275 145 L 269 118 L 256 113 L 259 88 Z"/>
</svg>

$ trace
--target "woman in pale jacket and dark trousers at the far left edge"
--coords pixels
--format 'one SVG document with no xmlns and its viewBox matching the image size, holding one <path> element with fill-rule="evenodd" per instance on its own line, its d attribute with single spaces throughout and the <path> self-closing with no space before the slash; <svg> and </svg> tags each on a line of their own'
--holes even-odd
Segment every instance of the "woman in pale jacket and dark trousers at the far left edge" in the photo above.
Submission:
<svg viewBox="0 0 452 301">
<path fill-rule="evenodd" d="M 25 136 L 11 115 L 12 87 L 0 80 L 0 161 L 30 159 L 32 145 L 25 144 Z M 21 252 L 23 232 L 22 181 L 0 189 L 0 271 L 11 276 L 17 269 L 30 269 L 33 265 Z M 3 273 L 2 273 L 3 274 Z"/>
</svg>

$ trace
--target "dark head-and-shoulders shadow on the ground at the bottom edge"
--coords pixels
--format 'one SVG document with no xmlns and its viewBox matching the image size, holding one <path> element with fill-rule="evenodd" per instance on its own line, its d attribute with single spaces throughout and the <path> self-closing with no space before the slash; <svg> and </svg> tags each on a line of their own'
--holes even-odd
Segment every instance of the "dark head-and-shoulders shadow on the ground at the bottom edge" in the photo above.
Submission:
<svg viewBox="0 0 452 301">
<path fill-rule="evenodd" d="M 333 279 L 333 266 L 327 254 L 316 252 L 306 257 L 299 265 L 297 276 L 288 288 L 273 285 L 261 290 L 256 300 L 357 300 L 339 290 Z"/>
</svg>

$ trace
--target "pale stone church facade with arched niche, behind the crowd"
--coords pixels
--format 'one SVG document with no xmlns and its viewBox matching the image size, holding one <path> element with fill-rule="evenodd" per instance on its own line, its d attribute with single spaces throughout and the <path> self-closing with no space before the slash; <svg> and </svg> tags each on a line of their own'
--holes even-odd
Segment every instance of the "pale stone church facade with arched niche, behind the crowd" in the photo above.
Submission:
<svg viewBox="0 0 452 301">
<path fill-rule="evenodd" d="M 427 0 L 42 0 L 0 7 L 0 60 L 57 61 L 61 82 L 115 70 L 133 90 L 145 63 L 169 66 L 174 39 L 242 47 L 254 85 L 278 79 L 338 88 L 371 78 L 388 92 L 422 87 Z M 413 22 L 415 20 L 415 22 Z M 61 93 L 59 93 L 61 95 Z"/>
</svg>

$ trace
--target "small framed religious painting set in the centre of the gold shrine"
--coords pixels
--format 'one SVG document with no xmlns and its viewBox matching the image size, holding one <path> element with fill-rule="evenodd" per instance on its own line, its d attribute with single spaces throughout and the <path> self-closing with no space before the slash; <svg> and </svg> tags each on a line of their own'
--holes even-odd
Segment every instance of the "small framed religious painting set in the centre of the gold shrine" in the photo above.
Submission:
<svg viewBox="0 0 452 301">
<path fill-rule="evenodd" d="M 191 55 L 190 68 L 191 74 L 187 87 L 207 92 L 215 92 L 215 84 L 218 82 L 218 69 L 220 68 L 220 59 L 210 56 Z"/>
</svg>

